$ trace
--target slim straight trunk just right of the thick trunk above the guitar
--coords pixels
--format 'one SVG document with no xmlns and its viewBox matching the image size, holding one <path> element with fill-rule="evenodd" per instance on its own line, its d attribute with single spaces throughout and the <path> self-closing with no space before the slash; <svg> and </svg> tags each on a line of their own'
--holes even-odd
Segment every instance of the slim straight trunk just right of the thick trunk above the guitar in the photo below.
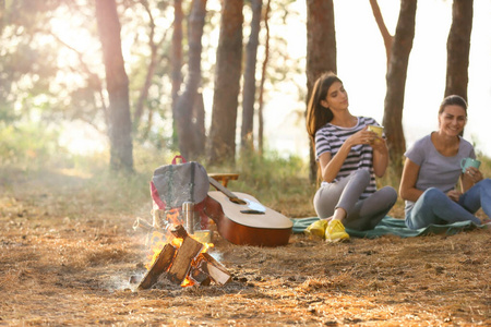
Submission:
<svg viewBox="0 0 491 327">
<path fill-rule="evenodd" d="M 263 0 L 251 0 L 252 21 L 251 35 L 246 52 L 246 69 L 243 74 L 242 94 L 242 130 L 241 148 L 253 149 L 253 125 L 254 125 L 254 104 L 255 104 L 255 64 L 258 62 L 259 33 L 261 29 L 261 11 Z"/>
</svg>

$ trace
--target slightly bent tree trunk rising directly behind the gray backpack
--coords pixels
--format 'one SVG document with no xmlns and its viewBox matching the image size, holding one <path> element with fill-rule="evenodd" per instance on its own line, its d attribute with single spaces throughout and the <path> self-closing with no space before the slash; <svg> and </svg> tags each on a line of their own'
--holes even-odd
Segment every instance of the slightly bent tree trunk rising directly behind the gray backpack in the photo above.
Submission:
<svg viewBox="0 0 491 327">
<path fill-rule="evenodd" d="M 189 76 L 185 89 L 179 96 L 176 105 L 177 132 L 179 150 L 187 159 L 196 157 L 194 144 L 195 121 L 192 119 L 194 102 L 197 97 L 197 87 L 201 83 L 201 37 L 206 15 L 206 0 L 193 0 L 189 16 Z"/>
</svg>

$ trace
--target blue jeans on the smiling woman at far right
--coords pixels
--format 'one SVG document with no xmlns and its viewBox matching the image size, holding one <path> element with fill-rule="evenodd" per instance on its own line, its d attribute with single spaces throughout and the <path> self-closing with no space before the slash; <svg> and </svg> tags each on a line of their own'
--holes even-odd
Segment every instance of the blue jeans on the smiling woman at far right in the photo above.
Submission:
<svg viewBox="0 0 491 327">
<path fill-rule="evenodd" d="M 420 229 L 429 225 L 446 225 L 457 221 L 472 221 L 480 225 L 474 214 L 482 207 L 491 218 L 491 179 L 486 179 L 464 193 L 458 203 L 452 201 L 445 193 L 430 187 L 415 203 L 412 209 L 406 213 L 406 226 Z"/>
</svg>

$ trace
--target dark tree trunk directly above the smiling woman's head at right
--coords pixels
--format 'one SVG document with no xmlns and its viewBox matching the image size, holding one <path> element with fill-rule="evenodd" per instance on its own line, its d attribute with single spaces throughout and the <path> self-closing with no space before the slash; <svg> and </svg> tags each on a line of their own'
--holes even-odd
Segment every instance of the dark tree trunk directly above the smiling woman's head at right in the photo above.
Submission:
<svg viewBox="0 0 491 327">
<path fill-rule="evenodd" d="M 452 26 L 446 41 L 445 97 L 455 94 L 467 100 L 472 2 L 454 0 L 452 5 Z"/>
</svg>

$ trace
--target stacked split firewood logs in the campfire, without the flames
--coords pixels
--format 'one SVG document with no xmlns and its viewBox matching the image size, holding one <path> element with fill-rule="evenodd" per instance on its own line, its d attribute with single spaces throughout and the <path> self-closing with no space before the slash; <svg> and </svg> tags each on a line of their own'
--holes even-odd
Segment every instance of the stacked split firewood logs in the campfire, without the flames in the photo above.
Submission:
<svg viewBox="0 0 491 327">
<path fill-rule="evenodd" d="M 208 286 L 212 281 L 225 284 L 230 280 L 227 269 L 209 254 L 202 253 L 204 244 L 188 235 L 182 225 L 176 226 L 171 233 L 182 239 L 179 247 L 170 243 L 164 245 L 154 264 L 143 277 L 137 289 L 149 289 L 155 284 L 161 274 L 177 283 Z"/>
</svg>

